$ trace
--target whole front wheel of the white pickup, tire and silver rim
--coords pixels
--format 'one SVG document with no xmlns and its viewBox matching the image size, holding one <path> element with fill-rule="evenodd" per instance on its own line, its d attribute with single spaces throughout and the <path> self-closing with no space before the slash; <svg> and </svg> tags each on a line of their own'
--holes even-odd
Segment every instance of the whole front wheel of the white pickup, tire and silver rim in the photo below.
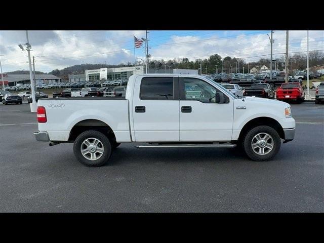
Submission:
<svg viewBox="0 0 324 243">
<path fill-rule="evenodd" d="M 241 142 L 245 153 L 255 161 L 272 159 L 281 145 L 277 131 L 268 126 L 252 128 L 245 134 Z"/>
</svg>

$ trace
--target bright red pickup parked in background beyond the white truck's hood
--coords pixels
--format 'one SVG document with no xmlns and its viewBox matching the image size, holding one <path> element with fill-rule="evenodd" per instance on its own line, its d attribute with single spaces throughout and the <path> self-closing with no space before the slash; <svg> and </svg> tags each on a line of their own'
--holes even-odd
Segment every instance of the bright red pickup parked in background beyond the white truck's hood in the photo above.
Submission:
<svg viewBox="0 0 324 243">
<path fill-rule="evenodd" d="M 300 83 L 282 84 L 277 89 L 277 100 L 297 100 L 301 103 L 305 100 L 305 93 Z"/>
</svg>

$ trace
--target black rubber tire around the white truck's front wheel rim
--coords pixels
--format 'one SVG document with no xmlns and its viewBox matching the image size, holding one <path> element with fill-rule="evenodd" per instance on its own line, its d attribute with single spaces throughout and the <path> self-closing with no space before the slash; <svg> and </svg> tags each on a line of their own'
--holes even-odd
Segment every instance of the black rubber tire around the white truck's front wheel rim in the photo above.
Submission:
<svg viewBox="0 0 324 243">
<path fill-rule="evenodd" d="M 266 154 L 258 154 L 252 148 L 252 140 L 259 133 L 267 133 L 272 137 L 273 146 L 272 149 Z M 281 140 L 277 131 L 268 126 L 258 126 L 250 129 L 245 133 L 241 141 L 241 146 L 244 148 L 245 153 L 254 161 L 267 161 L 272 159 L 280 149 Z"/>
</svg>

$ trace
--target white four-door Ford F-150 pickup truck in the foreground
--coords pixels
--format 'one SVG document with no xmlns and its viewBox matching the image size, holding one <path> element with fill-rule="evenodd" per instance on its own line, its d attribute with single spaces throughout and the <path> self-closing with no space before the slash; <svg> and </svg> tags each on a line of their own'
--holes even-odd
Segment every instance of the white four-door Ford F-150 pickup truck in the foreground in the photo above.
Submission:
<svg viewBox="0 0 324 243">
<path fill-rule="evenodd" d="M 278 152 L 281 139 L 295 136 L 288 103 L 237 97 L 194 74 L 132 75 L 125 98 L 39 99 L 37 120 L 37 141 L 73 142 L 86 166 L 102 166 L 124 142 L 141 142 L 139 148 L 237 146 L 263 161 Z"/>
</svg>

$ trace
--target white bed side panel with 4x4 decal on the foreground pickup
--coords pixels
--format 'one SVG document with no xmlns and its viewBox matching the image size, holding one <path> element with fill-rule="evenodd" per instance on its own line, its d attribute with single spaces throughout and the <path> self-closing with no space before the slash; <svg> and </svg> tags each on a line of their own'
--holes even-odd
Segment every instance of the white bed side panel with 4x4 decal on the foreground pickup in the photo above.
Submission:
<svg viewBox="0 0 324 243">
<path fill-rule="evenodd" d="M 47 131 L 51 141 L 68 141 L 72 128 L 89 126 L 99 120 L 114 131 L 117 142 L 130 142 L 129 101 L 107 97 L 64 97 L 39 99 L 46 109 L 47 122 L 38 123 L 39 131 Z M 87 123 L 80 121 L 87 120 Z"/>
</svg>

